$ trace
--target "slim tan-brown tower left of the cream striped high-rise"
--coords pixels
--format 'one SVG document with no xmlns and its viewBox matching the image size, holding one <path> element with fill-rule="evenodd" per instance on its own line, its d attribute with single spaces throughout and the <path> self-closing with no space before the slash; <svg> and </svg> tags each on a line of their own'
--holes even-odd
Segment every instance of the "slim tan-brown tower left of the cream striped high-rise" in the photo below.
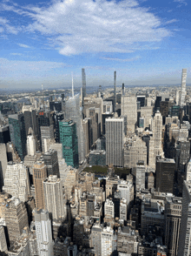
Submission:
<svg viewBox="0 0 191 256">
<path fill-rule="evenodd" d="M 47 178 L 46 165 L 43 161 L 37 161 L 33 165 L 33 182 L 36 193 L 36 208 L 44 208 L 43 181 Z"/>
</svg>

